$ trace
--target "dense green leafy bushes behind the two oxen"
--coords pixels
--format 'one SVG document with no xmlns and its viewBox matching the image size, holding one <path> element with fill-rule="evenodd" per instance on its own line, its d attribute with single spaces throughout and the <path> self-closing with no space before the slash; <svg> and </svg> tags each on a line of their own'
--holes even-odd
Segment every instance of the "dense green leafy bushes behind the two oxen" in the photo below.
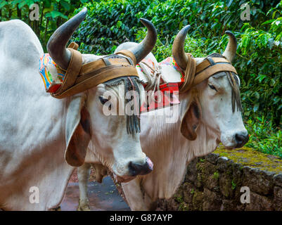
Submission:
<svg viewBox="0 0 282 225">
<path fill-rule="evenodd" d="M 30 21 L 32 4 L 39 5 L 39 20 Z M 250 20 L 241 13 L 250 6 Z M 233 65 L 241 77 L 241 98 L 248 146 L 282 158 L 282 1 L 195 0 L 13 0 L 0 1 L 0 20 L 19 18 L 29 24 L 44 50 L 56 28 L 88 8 L 86 20 L 72 41 L 84 53 L 109 54 L 124 41 L 140 41 L 146 29 L 139 18 L 151 20 L 158 30 L 153 50 L 160 61 L 172 54 L 174 37 L 190 24 L 186 52 L 193 56 L 222 53 L 231 30 L 238 39 Z"/>
</svg>

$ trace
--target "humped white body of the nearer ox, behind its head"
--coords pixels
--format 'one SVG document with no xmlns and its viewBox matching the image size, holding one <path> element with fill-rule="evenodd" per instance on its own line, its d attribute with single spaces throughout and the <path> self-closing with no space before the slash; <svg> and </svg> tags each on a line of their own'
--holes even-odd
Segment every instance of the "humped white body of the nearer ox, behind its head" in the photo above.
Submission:
<svg viewBox="0 0 282 225">
<path fill-rule="evenodd" d="M 0 49 L 0 208 L 49 210 L 72 174 L 63 158 L 68 101 L 42 89 L 43 49 L 29 26 L 1 22 Z"/>
</svg>

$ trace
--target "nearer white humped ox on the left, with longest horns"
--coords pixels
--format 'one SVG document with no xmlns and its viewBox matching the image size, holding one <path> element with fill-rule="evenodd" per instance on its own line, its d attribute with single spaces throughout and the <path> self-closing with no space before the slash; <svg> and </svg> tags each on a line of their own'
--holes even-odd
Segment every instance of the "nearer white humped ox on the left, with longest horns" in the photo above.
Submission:
<svg viewBox="0 0 282 225">
<path fill-rule="evenodd" d="M 85 16 L 86 8 L 49 40 L 47 49 L 61 68 L 68 68 L 70 61 L 65 44 Z M 148 20 L 143 24 L 148 27 L 147 37 L 132 49 L 137 62 L 156 40 L 153 25 Z M 75 168 L 70 165 L 82 165 L 89 141 L 96 146 L 99 160 L 121 181 L 134 178 L 130 165 L 144 165 L 148 172 L 139 134 L 127 134 L 126 116 L 105 116 L 102 111 L 99 97 L 111 91 L 123 99 L 116 91 L 122 84 L 99 84 L 64 99 L 51 97 L 39 76 L 39 58 L 44 53 L 39 39 L 20 20 L 0 23 L 0 49 L 0 209 L 57 207 Z M 101 58 L 82 56 L 83 63 Z"/>
</svg>

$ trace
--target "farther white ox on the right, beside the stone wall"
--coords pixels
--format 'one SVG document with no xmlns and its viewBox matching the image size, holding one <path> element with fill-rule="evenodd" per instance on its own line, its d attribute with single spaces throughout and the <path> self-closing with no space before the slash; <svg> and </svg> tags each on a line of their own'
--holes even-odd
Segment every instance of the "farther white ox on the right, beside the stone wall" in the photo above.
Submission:
<svg viewBox="0 0 282 225">
<path fill-rule="evenodd" d="M 174 59 L 184 69 L 187 65 L 184 40 L 188 28 L 186 26 L 179 32 L 173 45 Z M 229 44 L 223 56 L 232 61 L 236 55 L 237 41 L 231 32 L 226 33 L 229 34 Z M 132 46 L 136 44 L 124 43 L 116 51 Z M 146 58 L 158 63 L 152 53 Z M 196 58 L 197 65 L 203 60 Z M 160 67 L 165 79 L 170 82 L 180 81 L 179 73 L 172 65 Z M 141 71 L 139 75 L 146 81 Z M 217 72 L 190 91 L 179 94 L 179 110 L 173 106 L 141 114 L 141 146 L 154 162 L 154 170 L 146 176 L 137 176 L 126 184 L 122 183 L 125 198 L 132 210 L 154 210 L 158 199 L 171 198 L 184 179 L 188 162 L 193 158 L 212 153 L 220 142 L 231 149 L 240 148 L 248 141 L 248 131 L 243 125 L 241 111 L 232 110 L 231 92 L 226 72 Z M 177 122 L 166 123 L 165 117 L 172 115 L 171 111 L 177 112 L 174 113 Z M 87 155 L 93 155 L 93 149 L 94 146 L 89 148 Z M 105 169 L 98 165 L 94 165 L 94 168 L 101 181 L 106 174 Z M 79 167 L 80 205 L 84 203 L 80 210 L 89 208 L 86 195 L 87 169 L 89 165 Z"/>
</svg>

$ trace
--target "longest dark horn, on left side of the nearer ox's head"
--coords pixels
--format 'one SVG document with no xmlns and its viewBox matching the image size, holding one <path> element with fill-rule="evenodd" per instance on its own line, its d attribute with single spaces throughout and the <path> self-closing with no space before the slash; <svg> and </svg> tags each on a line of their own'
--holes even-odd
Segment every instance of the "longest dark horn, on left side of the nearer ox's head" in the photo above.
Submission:
<svg viewBox="0 0 282 225">
<path fill-rule="evenodd" d="M 87 8 L 84 7 L 77 15 L 58 27 L 47 43 L 47 50 L 51 58 L 64 70 L 68 68 L 71 57 L 70 51 L 65 46 L 68 44 L 68 40 L 72 37 L 72 34 L 77 30 L 79 24 L 86 17 L 86 13 Z"/>
</svg>

